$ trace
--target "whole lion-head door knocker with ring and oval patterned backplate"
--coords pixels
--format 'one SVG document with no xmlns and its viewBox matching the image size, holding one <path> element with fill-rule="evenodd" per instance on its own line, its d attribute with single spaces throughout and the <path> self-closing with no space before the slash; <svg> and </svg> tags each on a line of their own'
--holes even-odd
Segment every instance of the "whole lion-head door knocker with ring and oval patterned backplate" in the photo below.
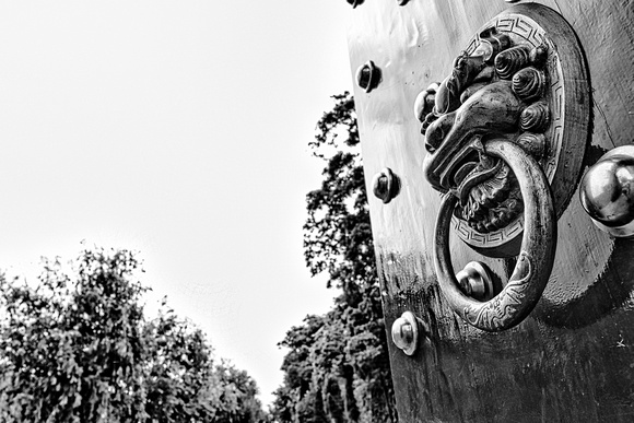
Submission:
<svg viewBox="0 0 634 423">
<path fill-rule="evenodd" d="M 541 297 L 554 260 L 556 219 L 579 177 L 589 104 L 573 30 L 539 4 L 495 16 L 456 58 L 451 73 L 416 98 L 427 150 L 424 176 L 445 193 L 434 245 L 438 282 L 451 308 L 474 327 L 514 327 Z M 517 256 L 501 292 L 478 301 L 458 283 L 450 226 L 481 254 Z"/>
</svg>

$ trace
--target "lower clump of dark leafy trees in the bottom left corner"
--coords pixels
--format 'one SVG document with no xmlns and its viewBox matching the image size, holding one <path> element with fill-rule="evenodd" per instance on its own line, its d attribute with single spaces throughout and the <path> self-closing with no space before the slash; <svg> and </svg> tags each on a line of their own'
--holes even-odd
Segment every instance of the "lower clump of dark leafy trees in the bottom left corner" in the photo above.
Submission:
<svg viewBox="0 0 634 423">
<path fill-rule="evenodd" d="M 204 334 L 165 305 L 146 321 L 139 263 L 85 250 L 71 277 L 44 262 L 33 287 L 0 275 L 0 421 L 257 422 L 253 379 L 214 364 Z"/>
</svg>

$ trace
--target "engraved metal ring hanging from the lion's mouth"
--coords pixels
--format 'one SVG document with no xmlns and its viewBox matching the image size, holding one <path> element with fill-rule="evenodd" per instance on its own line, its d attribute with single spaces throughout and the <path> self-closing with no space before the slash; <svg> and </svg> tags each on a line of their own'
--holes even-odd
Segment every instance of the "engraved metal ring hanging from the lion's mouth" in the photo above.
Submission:
<svg viewBox="0 0 634 423">
<path fill-rule="evenodd" d="M 556 246 L 556 218 L 545 175 L 524 150 L 506 140 L 484 144 L 486 154 L 508 164 L 524 198 L 524 234 L 517 263 L 500 294 L 479 302 L 462 294 L 451 267 L 449 226 L 457 198 L 446 193 L 436 221 L 434 266 L 450 307 L 468 324 L 491 332 L 521 322 L 536 306 L 548 283 Z"/>
</svg>

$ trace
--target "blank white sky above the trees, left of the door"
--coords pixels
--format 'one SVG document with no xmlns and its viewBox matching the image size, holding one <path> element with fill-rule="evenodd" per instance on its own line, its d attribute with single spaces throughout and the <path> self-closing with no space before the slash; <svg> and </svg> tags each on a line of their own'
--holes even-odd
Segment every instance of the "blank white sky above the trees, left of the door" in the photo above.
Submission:
<svg viewBox="0 0 634 423">
<path fill-rule="evenodd" d="M 140 251 L 258 383 L 336 294 L 302 256 L 307 142 L 351 90 L 344 0 L 0 1 L 0 268 Z M 32 278 L 32 277 L 31 277 Z M 149 308 L 152 308 L 150 306 Z"/>
</svg>

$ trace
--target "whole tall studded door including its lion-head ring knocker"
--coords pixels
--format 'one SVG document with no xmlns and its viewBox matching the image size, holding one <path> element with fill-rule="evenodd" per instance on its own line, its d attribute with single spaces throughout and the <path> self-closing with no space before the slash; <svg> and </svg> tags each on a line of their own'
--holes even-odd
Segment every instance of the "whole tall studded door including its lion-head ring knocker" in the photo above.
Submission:
<svg viewBox="0 0 634 423">
<path fill-rule="evenodd" d="M 400 421 L 632 421 L 634 3 L 357 3 Z"/>
</svg>

